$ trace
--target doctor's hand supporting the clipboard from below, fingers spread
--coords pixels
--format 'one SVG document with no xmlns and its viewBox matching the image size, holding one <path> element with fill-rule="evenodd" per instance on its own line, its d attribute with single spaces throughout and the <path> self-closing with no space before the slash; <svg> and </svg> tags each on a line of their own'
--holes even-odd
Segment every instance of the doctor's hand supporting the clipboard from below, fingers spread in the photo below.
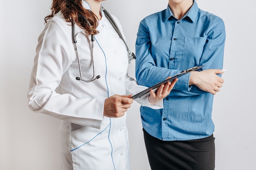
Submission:
<svg viewBox="0 0 256 170">
<path fill-rule="evenodd" d="M 171 77 L 167 77 L 166 79 L 169 79 Z M 166 84 L 162 84 L 157 88 L 157 91 L 154 92 L 153 90 L 149 91 L 148 100 L 150 104 L 156 104 L 157 102 L 160 102 L 162 99 L 164 99 L 166 96 L 168 96 L 173 89 L 175 83 L 178 81 L 178 79 L 174 79 L 172 82 L 167 82 Z"/>
</svg>

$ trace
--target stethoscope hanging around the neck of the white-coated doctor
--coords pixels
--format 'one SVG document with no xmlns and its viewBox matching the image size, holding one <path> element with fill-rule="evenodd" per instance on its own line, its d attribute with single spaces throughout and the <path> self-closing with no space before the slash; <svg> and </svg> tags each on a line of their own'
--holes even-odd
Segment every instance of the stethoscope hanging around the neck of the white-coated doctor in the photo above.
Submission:
<svg viewBox="0 0 256 170">
<path fill-rule="evenodd" d="M 119 37 L 123 40 L 125 46 L 126 46 L 126 49 L 127 49 L 127 55 L 128 55 L 128 62 L 130 64 L 130 62 L 133 60 L 133 59 L 136 59 L 135 57 L 135 54 L 134 53 L 130 53 L 130 50 L 123 38 L 123 36 L 121 35 L 121 32 L 117 26 L 117 24 L 115 23 L 114 19 L 111 17 L 111 15 L 108 13 L 108 11 L 106 11 L 105 8 L 102 7 L 102 10 L 103 12 L 106 14 L 106 18 L 110 21 L 111 25 L 114 27 L 115 31 L 117 31 Z M 85 22 L 91 26 L 91 24 L 88 22 L 88 20 L 83 16 L 81 15 L 83 20 L 85 20 Z M 80 73 L 80 77 L 76 77 L 77 80 L 82 80 L 84 82 L 92 82 L 94 81 L 95 79 L 99 79 L 101 76 L 100 75 L 97 75 L 96 77 L 94 77 L 95 75 L 95 69 L 94 69 L 94 35 L 91 35 L 91 58 L 92 58 L 92 69 L 93 69 L 93 75 L 92 75 L 92 78 L 91 79 L 83 79 L 82 77 L 82 72 L 81 72 L 81 65 L 80 65 L 80 60 L 79 60 L 79 54 L 78 54 L 78 51 L 77 51 L 77 46 L 76 46 L 76 38 L 75 38 L 75 24 L 74 22 L 72 22 L 72 41 L 74 43 L 74 49 L 76 51 L 76 57 L 77 57 L 77 60 L 78 60 L 78 66 L 79 66 L 79 73 Z"/>
</svg>

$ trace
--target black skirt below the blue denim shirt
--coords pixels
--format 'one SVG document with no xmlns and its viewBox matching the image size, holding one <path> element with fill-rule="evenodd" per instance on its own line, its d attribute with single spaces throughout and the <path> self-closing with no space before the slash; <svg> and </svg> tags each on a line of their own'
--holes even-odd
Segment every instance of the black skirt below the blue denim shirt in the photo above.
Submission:
<svg viewBox="0 0 256 170">
<path fill-rule="evenodd" d="M 162 141 L 143 131 L 151 170 L 214 170 L 213 135 L 188 141 Z"/>
</svg>

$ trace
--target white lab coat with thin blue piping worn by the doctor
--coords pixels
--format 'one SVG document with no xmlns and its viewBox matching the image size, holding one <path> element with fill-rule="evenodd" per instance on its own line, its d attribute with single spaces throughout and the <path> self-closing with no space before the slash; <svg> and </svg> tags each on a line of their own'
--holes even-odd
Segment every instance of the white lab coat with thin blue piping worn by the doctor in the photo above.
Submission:
<svg viewBox="0 0 256 170">
<path fill-rule="evenodd" d="M 83 1 L 83 6 L 90 6 Z M 103 13 L 102 13 L 103 14 Z M 121 25 L 113 16 L 119 29 Z M 136 94 L 146 87 L 127 75 L 128 57 L 124 42 L 103 14 L 95 35 L 95 75 L 93 82 L 76 80 L 78 60 L 72 43 L 70 23 L 61 13 L 49 20 L 38 38 L 28 92 L 29 108 L 61 119 L 61 170 L 129 170 L 126 114 L 119 118 L 103 116 L 104 101 L 114 94 Z M 75 35 L 82 76 L 93 74 L 90 35 L 76 25 Z M 57 93 L 56 88 L 61 88 Z M 150 106 L 148 97 L 141 105 Z M 139 114 L 139 113 L 136 113 Z"/>
</svg>

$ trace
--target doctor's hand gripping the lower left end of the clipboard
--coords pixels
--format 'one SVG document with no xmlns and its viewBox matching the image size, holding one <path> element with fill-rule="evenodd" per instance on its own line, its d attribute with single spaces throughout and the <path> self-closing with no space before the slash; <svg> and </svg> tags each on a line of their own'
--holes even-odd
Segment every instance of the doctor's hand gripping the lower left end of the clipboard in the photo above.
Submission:
<svg viewBox="0 0 256 170">
<path fill-rule="evenodd" d="M 132 95 L 112 95 L 105 99 L 104 113 L 106 117 L 121 117 L 130 108 Z"/>
</svg>

